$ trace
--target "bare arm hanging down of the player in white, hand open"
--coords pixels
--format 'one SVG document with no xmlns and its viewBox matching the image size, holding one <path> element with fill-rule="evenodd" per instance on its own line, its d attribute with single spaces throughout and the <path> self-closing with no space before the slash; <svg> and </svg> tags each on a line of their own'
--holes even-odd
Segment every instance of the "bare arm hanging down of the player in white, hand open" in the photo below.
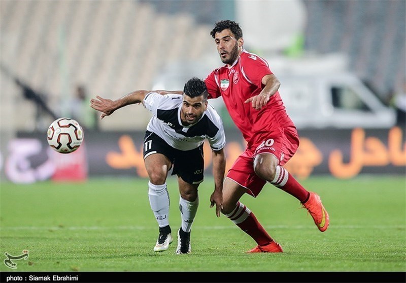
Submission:
<svg viewBox="0 0 406 283">
<path fill-rule="evenodd" d="M 213 150 L 213 176 L 214 192 L 210 196 L 210 208 L 216 204 L 216 215 L 220 217 L 220 210 L 223 208 L 223 181 L 225 173 L 225 155 L 223 148 Z"/>
</svg>

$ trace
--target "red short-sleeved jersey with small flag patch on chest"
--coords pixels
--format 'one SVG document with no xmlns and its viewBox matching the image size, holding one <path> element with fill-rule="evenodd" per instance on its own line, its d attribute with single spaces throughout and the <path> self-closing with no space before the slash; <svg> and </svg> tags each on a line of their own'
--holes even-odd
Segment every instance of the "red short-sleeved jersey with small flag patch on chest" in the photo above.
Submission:
<svg viewBox="0 0 406 283">
<path fill-rule="evenodd" d="M 228 113 L 247 142 L 260 132 L 294 128 L 279 92 L 260 110 L 252 108 L 251 103 L 244 103 L 261 92 L 264 87 L 261 80 L 268 74 L 273 73 L 263 58 L 243 50 L 231 66 L 220 67 L 205 79 L 208 98 L 223 97 Z"/>
</svg>

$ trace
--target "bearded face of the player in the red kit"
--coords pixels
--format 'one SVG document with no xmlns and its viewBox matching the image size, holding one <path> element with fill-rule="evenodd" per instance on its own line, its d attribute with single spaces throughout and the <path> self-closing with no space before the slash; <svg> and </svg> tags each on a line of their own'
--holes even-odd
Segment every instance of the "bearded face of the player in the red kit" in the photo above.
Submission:
<svg viewBox="0 0 406 283">
<path fill-rule="evenodd" d="M 216 33 L 214 42 L 216 43 L 221 61 L 224 64 L 231 65 L 240 55 L 243 39 L 236 40 L 231 30 L 227 28 L 223 29 L 220 33 Z"/>
</svg>

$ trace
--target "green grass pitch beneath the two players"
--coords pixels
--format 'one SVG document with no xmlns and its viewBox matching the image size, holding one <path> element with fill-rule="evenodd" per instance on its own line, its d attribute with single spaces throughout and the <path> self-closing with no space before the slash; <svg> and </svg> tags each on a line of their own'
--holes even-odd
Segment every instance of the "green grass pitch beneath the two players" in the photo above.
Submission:
<svg viewBox="0 0 406 283">
<path fill-rule="evenodd" d="M 241 201 L 284 248 L 245 254 L 255 242 L 215 216 L 213 180 L 200 185 L 192 253 L 154 253 L 158 226 L 147 179 L 100 178 L 86 183 L 1 183 L 0 254 L 21 255 L 17 271 L 406 271 L 406 182 L 399 176 L 350 180 L 312 177 L 301 183 L 320 194 L 330 227 L 318 231 L 296 199 L 267 184 Z M 173 234 L 180 226 L 176 178 L 168 179 Z M 4 259 L 3 259 L 4 260 Z M 0 271 L 13 271 L 5 264 Z"/>
</svg>

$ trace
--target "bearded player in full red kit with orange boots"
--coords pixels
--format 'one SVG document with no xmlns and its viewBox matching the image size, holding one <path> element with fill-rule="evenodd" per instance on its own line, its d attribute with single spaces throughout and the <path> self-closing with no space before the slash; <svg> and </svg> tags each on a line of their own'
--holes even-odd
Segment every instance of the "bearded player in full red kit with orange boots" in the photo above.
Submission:
<svg viewBox="0 0 406 283">
<path fill-rule="evenodd" d="M 257 197 L 266 182 L 281 188 L 300 201 L 321 232 L 329 225 L 328 213 L 319 195 L 307 191 L 283 168 L 296 152 L 299 137 L 279 95 L 279 80 L 263 58 L 244 50 L 238 23 L 219 21 L 210 34 L 225 66 L 205 79 L 208 98 L 222 96 L 247 141 L 224 180 L 221 212 L 256 241 L 257 246 L 248 253 L 281 253 L 281 245 L 239 201 L 245 193 Z"/>
</svg>

